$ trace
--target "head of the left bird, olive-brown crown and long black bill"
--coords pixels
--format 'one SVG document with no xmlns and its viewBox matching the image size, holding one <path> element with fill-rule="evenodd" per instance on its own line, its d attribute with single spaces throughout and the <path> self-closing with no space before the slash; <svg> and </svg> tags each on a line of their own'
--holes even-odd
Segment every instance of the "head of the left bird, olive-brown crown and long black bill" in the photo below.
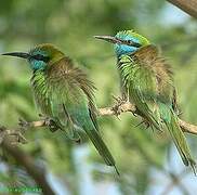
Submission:
<svg viewBox="0 0 197 195">
<path fill-rule="evenodd" d="M 55 63 L 64 57 L 64 53 L 57 50 L 53 44 L 38 44 L 29 52 L 11 52 L 2 55 L 11 55 L 26 58 L 32 70 L 45 69 L 49 64 Z"/>
</svg>

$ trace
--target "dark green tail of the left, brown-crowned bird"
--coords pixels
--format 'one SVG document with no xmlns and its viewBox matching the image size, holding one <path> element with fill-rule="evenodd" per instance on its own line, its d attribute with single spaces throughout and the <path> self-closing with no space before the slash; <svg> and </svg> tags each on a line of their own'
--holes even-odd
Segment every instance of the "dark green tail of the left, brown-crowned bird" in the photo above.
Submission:
<svg viewBox="0 0 197 195">
<path fill-rule="evenodd" d="M 104 161 L 108 166 L 114 166 L 117 174 L 120 176 L 120 173 L 116 167 L 115 159 L 114 159 L 113 155 L 110 154 L 109 150 L 107 148 L 106 144 L 102 140 L 97 130 L 95 128 L 90 129 L 90 130 L 88 130 L 88 129 L 84 129 L 84 130 L 86 130 L 88 136 L 90 138 L 90 140 L 92 141 L 92 143 L 94 144 L 95 148 L 100 153 L 100 155 L 103 157 Z"/>
</svg>

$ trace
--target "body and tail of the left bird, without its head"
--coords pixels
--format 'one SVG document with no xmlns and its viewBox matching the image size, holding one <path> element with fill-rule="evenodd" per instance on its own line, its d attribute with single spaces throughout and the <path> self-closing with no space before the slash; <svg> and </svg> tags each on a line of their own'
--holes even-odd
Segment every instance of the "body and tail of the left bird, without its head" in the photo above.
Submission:
<svg viewBox="0 0 197 195">
<path fill-rule="evenodd" d="M 55 119 L 61 129 L 69 130 L 69 135 L 75 135 L 78 128 L 84 130 L 105 162 L 115 166 L 114 157 L 98 132 L 94 87 L 87 75 L 64 58 L 47 70 L 40 83 L 32 81 L 42 110 Z"/>
</svg>

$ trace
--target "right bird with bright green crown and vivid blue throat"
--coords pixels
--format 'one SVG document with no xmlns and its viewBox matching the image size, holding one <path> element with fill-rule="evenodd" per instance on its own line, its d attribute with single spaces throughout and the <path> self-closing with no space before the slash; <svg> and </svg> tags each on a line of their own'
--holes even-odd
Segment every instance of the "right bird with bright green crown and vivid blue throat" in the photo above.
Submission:
<svg viewBox="0 0 197 195">
<path fill-rule="evenodd" d="M 162 130 L 166 126 L 184 165 L 195 172 L 196 162 L 178 122 L 172 72 L 158 49 L 133 30 L 94 37 L 115 46 L 122 99 L 134 103 L 137 114 L 152 128 Z"/>
</svg>

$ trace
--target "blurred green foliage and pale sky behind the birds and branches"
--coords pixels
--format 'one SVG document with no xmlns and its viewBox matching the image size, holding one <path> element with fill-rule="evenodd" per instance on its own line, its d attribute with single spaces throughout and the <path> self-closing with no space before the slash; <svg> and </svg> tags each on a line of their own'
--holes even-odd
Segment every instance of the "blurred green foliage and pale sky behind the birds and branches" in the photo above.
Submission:
<svg viewBox="0 0 197 195">
<path fill-rule="evenodd" d="M 182 118 L 197 123 L 197 23 L 158 0 L 1 0 L 0 52 L 28 51 L 51 42 L 80 63 L 95 82 L 98 107 L 113 105 L 119 79 L 113 47 L 94 35 L 135 29 L 158 44 L 174 70 Z M 0 56 L 0 125 L 17 126 L 18 118 L 39 119 L 26 62 Z M 135 127 L 140 119 L 122 114 L 101 117 L 101 132 L 121 172 L 105 166 L 87 139 L 77 145 L 62 132 L 31 129 L 19 145 L 44 168 L 55 194 L 132 195 L 193 194 L 196 178 L 162 132 Z M 197 157 L 197 138 L 186 134 Z M 0 150 L 0 187 L 39 186 L 24 167 Z M 0 192 L 5 194 L 4 192 Z M 22 193 L 24 194 L 24 193 Z M 28 193 L 27 193 L 28 194 Z"/>
</svg>

